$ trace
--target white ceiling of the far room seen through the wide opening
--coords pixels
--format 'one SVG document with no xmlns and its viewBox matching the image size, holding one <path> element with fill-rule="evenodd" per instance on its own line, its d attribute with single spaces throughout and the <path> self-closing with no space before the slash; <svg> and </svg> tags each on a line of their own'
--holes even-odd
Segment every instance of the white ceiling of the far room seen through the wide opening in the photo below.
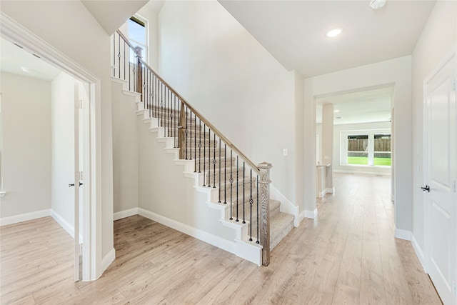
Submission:
<svg viewBox="0 0 457 305">
<path fill-rule="evenodd" d="M 333 104 L 333 124 L 390 121 L 393 86 L 316 98 L 316 123 L 322 122 L 322 105 Z M 339 119 L 338 119 L 339 117 Z"/>
</svg>

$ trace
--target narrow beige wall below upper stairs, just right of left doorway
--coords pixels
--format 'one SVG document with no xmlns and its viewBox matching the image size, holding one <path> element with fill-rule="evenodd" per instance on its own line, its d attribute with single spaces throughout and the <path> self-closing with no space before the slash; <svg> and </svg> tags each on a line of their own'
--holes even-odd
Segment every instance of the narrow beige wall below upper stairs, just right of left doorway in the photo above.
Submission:
<svg viewBox="0 0 457 305">
<path fill-rule="evenodd" d="M 113 81 L 111 96 L 113 98 L 114 213 L 139 206 L 136 99 L 134 96 L 121 94 L 121 90 L 122 85 Z M 143 127 L 146 129 L 146 126 Z M 154 168 L 150 170 L 154 171 Z"/>
</svg>

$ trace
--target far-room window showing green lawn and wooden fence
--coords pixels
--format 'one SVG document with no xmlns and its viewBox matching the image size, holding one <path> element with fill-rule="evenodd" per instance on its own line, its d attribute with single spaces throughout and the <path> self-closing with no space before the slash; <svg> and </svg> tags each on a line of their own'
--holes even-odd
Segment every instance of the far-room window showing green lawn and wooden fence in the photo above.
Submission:
<svg viewBox="0 0 457 305">
<path fill-rule="evenodd" d="M 390 129 L 341 131 L 340 164 L 391 166 Z"/>
</svg>

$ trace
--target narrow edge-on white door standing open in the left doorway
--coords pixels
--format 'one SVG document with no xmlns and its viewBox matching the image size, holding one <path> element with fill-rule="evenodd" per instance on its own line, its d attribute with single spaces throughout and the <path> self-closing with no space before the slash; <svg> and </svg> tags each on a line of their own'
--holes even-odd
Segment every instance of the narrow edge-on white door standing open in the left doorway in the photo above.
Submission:
<svg viewBox="0 0 457 305">
<path fill-rule="evenodd" d="M 81 103 L 83 96 L 81 96 L 81 84 L 76 82 L 74 84 L 74 280 L 79 281 L 82 279 L 82 251 L 81 240 L 82 236 L 80 229 L 80 211 L 82 199 L 80 196 L 80 189 L 82 184 L 82 171 L 80 164 L 80 132 L 79 132 L 79 111 L 81 111 Z"/>
</svg>

